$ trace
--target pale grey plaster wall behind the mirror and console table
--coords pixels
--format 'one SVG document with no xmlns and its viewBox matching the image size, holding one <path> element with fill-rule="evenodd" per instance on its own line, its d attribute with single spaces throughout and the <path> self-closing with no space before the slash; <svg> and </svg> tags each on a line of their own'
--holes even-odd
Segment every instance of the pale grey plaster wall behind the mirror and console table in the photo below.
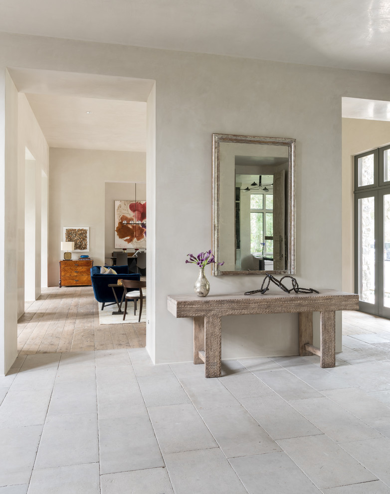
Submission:
<svg viewBox="0 0 390 494">
<path fill-rule="evenodd" d="M 192 360 L 192 321 L 173 318 L 167 295 L 192 292 L 197 272 L 185 264 L 186 254 L 211 247 L 213 132 L 297 139 L 297 278 L 301 286 L 341 288 L 341 97 L 390 100 L 390 76 L 4 33 L 0 66 L 1 135 L 6 66 L 156 81 L 148 102 L 147 157 L 148 273 L 155 271 L 148 286 L 147 342 L 156 362 Z M 0 156 L 4 142 L 3 137 Z M 5 165 L 0 158 L 0 179 L 7 183 L 1 208 L 8 218 L 17 195 L 11 150 L 5 156 Z M 5 248 L 12 260 L 7 231 L 0 244 L 0 254 Z M 211 278 L 210 270 L 206 275 Z M 12 277 L 7 271 L 7 286 Z M 242 292 L 260 282 L 256 276 L 212 278 L 210 294 Z M 1 290 L 3 285 L 3 324 Z M 223 320 L 225 358 L 297 350 L 295 315 Z"/>
</svg>

